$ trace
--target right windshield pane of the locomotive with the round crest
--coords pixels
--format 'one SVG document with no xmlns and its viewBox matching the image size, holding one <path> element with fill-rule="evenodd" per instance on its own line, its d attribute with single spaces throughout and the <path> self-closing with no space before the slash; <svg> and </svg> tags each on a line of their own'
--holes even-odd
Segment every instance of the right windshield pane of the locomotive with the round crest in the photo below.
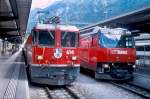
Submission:
<svg viewBox="0 0 150 99">
<path fill-rule="evenodd" d="M 61 32 L 61 46 L 62 47 L 76 47 L 77 33 L 75 32 Z"/>
</svg>

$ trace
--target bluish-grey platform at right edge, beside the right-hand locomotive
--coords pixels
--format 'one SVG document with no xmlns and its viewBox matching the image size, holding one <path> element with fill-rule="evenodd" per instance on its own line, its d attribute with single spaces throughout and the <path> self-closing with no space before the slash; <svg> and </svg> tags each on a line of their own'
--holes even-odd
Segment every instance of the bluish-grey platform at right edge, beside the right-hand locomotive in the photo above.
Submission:
<svg viewBox="0 0 150 99">
<path fill-rule="evenodd" d="M 138 66 L 131 83 L 150 90 L 150 66 Z"/>
</svg>

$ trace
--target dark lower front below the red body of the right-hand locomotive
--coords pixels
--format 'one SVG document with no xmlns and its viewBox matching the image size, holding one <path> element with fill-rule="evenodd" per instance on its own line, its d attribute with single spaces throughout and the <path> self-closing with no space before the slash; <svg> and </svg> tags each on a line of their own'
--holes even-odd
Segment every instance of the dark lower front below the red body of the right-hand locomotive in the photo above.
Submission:
<svg viewBox="0 0 150 99">
<path fill-rule="evenodd" d="M 98 63 L 96 79 L 130 80 L 133 78 L 134 63 Z"/>
</svg>

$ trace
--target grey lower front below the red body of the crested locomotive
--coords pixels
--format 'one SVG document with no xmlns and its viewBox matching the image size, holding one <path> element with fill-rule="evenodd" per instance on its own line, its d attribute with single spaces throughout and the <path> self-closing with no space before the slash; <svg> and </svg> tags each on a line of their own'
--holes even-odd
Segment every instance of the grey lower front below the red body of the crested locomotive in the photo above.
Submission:
<svg viewBox="0 0 150 99">
<path fill-rule="evenodd" d="M 80 67 L 30 67 L 31 81 L 40 84 L 69 85 L 77 79 Z"/>
</svg>

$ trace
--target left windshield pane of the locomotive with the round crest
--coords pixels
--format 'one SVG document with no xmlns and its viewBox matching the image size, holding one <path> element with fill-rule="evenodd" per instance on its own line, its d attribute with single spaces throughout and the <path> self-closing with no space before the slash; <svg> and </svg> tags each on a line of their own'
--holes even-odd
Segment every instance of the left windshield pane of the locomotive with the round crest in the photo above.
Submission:
<svg viewBox="0 0 150 99">
<path fill-rule="evenodd" d="M 38 40 L 40 45 L 55 46 L 55 32 L 48 30 L 40 30 Z"/>
</svg>

